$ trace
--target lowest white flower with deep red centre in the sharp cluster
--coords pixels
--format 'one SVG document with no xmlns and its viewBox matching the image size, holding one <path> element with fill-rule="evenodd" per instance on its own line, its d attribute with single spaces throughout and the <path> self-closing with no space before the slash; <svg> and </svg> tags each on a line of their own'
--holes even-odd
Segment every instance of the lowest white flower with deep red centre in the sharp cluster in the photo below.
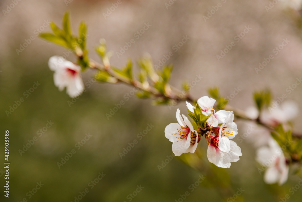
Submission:
<svg viewBox="0 0 302 202">
<path fill-rule="evenodd" d="M 230 168 L 232 162 L 239 160 L 239 156 L 242 156 L 240 147 L 236 142 L 230 141 L 230 151 L 224 152 L 219 149 L 219 141 L 221 141 L 218 135 L 210 135 L 207 137 L 207 158 L 208 160 L 218 167 Z"/>
</svg>

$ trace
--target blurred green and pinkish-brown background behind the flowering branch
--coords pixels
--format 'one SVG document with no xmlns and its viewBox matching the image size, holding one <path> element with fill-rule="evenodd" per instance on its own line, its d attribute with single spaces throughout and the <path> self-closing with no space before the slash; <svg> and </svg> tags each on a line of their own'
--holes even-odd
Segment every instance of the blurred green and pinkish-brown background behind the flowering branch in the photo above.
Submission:
<svg viewBox="0 0 302 202">
<path fill-rule="evenodd" d="M 50 21 L 61 27 L 69 10 L 74 32 L 81 21 L 88 25 L 89 56 L 97 61 L 94 47 L 104 38 L 114 52 L 114 66 L 149 53 L 159 67 L 174 64 L 171 84 L 177 88 L 201 75 L 201 81 L 191 83 L 196 99 L 217 86 L 230 96 L 230 105 L 245 110 L 253 105 L 255 90 L 269 88 L 274 99 L 286 94 L 301 109 L 301 86 L 287 91 L 301 76 L 300 8 L 284 2 L 269 5 L 268 0 L 1 1 L 0 154 L 4 156 L 4 130 L 9 130 L 11 164 L 9 198 L 2 186 L 4 164 L 0 167 L 0 200 L 280 201 L 290 194 L 286 201 L 301 201 L 302 189 L 289 193 L 300 180 L 292 171 L 282 187 L 263 182 L 254 148 L 238 141 L 247 131 L 241 121 L 235 138 L 243 153 L 240 161 L 230 169 L 213 166 L 202 139 L 197 153 L 204 161 L 199 169 L 188 167 L 172 154 L 164 136 L 165 126 L 176 122 L 176 109 L 186 112 L 185 103 L 152 106 L 150 100 L 132 96 L 129 86 L 93 82 L 91 70 L 82 74 L 87 91 L 71 99 L 54 86 L 47 62 L 53 55 L 70 61 L 75 57 L 37 36 L 51 31 Z M 135 42 L 128 50 L 117 54 L 131 39 Z M 270 54 L 274 58 L 257 71 Z M 240 91 L 233 96 L 236 89 Z M 125 104 L 107 118 L 120 101 Z M 11 107 L 11 113 L 5 112 Z M 301 121 L 298 115 L 294 131 L 301 131 Z M 150 131 L 148 124 L 154 126 Z"/>
</svg>

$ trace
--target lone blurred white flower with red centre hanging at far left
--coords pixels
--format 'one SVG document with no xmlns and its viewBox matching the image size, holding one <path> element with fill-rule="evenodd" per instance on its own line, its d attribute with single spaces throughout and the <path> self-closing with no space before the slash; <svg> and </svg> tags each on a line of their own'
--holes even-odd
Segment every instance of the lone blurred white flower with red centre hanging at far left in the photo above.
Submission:
<svg viewBox="0 0 302 202">
<path fill-rule="evenodd" d="M 63 91 L 66 87 L 66 92 L 71 98 L 75 98 L 84 91 L 84 84 L 80 74 L 81 68 L 65 60 L 61 56 L 52 56 L 49 58 L 48 66 L 54 71 L 53 81 L 59 91 Z"/>
</svg>

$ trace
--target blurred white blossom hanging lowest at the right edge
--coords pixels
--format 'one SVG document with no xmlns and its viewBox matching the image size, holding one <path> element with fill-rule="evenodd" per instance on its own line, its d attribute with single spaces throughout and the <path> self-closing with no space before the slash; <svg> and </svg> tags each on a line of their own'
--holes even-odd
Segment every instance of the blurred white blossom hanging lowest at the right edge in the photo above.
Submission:
<svg viewBox="0 0 302 202">
<path fill-rule="evenodd" d="M 273 138 L 269 139 L 268 146 L 257 150 L 256 160 L 267 168 L 264 174 L 265 183 L 282 185 L 288 179 L 289 166 L 281 147 Z"/>
</svg>

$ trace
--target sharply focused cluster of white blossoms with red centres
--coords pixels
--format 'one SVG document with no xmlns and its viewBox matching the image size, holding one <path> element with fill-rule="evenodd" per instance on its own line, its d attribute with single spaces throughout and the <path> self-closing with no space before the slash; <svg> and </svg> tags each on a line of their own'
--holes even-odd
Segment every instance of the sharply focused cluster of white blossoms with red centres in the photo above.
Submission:
<svg viewBox="0 0 302 202">
<path fill-rule="evenodd" d="M 205 118 L 204 124 L 198 125 L 200 120 L 194 120 L 198 127 L 195 130 L 188 118 L 183 114 L 181 116 L 180 110 L 177 109 L 178 123 L 166 126 L 165 137 L 173 143 L 172 151 L 175 156 L 180 156 L 183 153 L 194 153 L 201 136 L 204 136 L 208 145 L 208 160 L 218 167 L 229 168 L 231 162 L 238 161 L 239 156 L 242 156 L 240 147 L 231 140 L 238 134 L 237 125 L 233 122 L 233 112 L 225 110 L 215 112 L 213 108 L 215 102 L 215 99 L 208 96 L 199 98 L 195 106 L 186 102 L 189 113 L 195 115 L 196 120 Z M 197 108 L 201 110 L 201 116 L 196 114 Z"/>
</svg>

